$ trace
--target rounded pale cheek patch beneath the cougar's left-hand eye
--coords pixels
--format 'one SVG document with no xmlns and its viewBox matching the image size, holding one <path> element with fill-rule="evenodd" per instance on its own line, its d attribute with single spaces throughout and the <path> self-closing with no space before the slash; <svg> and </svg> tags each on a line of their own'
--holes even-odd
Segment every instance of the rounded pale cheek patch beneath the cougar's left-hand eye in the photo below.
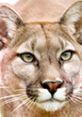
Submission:
<svg viewBox="0 0 82 117">
<path fill-rule="evenodd" d="M 34 79 L 36 76 L 36 69 L 33 64 L 24 63 L 20 59 L 15 59 L 12 63 L 12 70 L 19 78 Z"/>
</svg>

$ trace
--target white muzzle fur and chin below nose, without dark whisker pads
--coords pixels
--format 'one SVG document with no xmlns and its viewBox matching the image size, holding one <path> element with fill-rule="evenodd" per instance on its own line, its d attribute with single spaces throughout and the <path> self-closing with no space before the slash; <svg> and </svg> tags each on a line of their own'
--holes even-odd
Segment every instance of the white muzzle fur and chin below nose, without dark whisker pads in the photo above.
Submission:
<svg viewBox="0 0 82 117">
<path fill-rule="evenodd" d="M 38 91 L 37 106 L 43 110 L 57 111 L 66 104 L 65 87 L 58 89 L 58 91 L 54 93 L 52 101 L 52 96 L 47 89 L 38 89 Z"/>
</svg>

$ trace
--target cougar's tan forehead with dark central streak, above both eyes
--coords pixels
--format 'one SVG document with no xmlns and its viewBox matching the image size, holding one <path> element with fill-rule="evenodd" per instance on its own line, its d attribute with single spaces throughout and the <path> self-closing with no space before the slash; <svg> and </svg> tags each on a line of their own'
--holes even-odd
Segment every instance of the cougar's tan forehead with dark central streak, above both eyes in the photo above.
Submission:
<svg viewBox="0 0 82 117">
<path fill-rule="evenodd" d="M 70 39 L 71 37 L 58 24 L 31 24 L 26 26 L 18 51 L 23 49 L 44 51 L 46 48 L 63 49 L 68 48 L 67 46 L 73 49 Z"/>
</svg>

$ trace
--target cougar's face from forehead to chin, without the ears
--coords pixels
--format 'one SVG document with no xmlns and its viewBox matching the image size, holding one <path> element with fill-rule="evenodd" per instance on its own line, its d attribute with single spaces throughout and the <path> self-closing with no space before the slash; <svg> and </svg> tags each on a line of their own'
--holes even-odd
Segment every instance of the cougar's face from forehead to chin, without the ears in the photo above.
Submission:
<svg viewBox="0 0 82 117">
<path fill-rule="evenodd" d="M 56 111 L 82 95 L 81 61 L 71 37 L 59 25 L 37 27 L 8 64 L 27 99 L 46 111 Z"/>
</svg>

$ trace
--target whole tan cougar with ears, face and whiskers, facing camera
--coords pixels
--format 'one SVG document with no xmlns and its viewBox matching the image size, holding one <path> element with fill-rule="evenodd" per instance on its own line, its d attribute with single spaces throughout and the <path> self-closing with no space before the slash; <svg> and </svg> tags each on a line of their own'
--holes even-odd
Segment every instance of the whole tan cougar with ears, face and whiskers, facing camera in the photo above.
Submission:
<svg viewBox="0 0 82 117">
<path fill-rule="evenodd" d="M 1 6 L 0 22 L 3 117 L 82 117 L 82 1 L 53 23 Z"/>
</svg>

